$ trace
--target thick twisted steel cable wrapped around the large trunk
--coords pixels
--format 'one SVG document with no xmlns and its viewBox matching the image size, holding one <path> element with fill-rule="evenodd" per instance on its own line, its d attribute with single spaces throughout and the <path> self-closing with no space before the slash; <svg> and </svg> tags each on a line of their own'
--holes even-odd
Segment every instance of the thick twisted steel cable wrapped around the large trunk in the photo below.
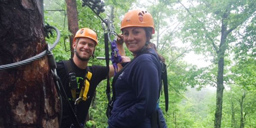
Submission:
<svg viewBox="0 0 256 128">
<path fill-rule="evenodd" d="M 10 64 L 7 64 L 7 65 L 2 65 L 0 66 L 0 71 L 1 70 L 8 70 L 8 69 L 16 69 L 20 66 L 25 66 L 25 65 L 28 65 L 29 63 L 35 61 L 35 60 L 38 60 L 42 57 L 44 57 L 45 55 L 47 55 L 49 52 L 51 52 L 55 47 L 56 45 L 58 44 L 59 42 L 59 39 L 60 39 L 60 32 L 59 30 L 56 28 L 56 27 L 53 27 L 53 26 L 46 26 L 48 29 L 54 29 L 57 33 L 57 38 L 56 40 L 54 41 L 52 47 L 50 49 L 47 49 L 33 57 L 30 57 L 28 59 L 25 59 L 25 60 L 22 60 L 22 61 L 19 61 L 19 62 L 15 62 L 15 63 L 10 63 Z"/>
</svg>

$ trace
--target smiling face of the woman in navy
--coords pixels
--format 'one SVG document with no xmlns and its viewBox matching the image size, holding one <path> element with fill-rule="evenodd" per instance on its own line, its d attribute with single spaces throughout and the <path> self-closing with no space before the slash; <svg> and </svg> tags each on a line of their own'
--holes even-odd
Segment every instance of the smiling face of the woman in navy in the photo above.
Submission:
<svg viewBox="0 0 256 128">
<path fill-rule="evenodd" d="M 129 51 L 136 55 L 146 44 L 146 32 L 141 27 L 124 28 L 123 40 Z"/>
</svg>

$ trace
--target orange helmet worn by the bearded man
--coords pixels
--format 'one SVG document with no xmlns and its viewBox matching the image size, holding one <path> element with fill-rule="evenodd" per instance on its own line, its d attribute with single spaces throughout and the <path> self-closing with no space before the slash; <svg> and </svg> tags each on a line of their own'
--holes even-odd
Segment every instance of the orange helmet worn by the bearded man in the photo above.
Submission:
<svg viewBox="0 0 256 128">
<path fill-rule="evenodd" d="M 74 42 L 76 41 L 76 38 L 78 37 L 87 37 L 96 42 L 95 46 L 98 44 L 98 38 L 96 32 L 89 28 L 81 28 L 76 32 L 76 35 L 74 37 Z"/>
</svg>

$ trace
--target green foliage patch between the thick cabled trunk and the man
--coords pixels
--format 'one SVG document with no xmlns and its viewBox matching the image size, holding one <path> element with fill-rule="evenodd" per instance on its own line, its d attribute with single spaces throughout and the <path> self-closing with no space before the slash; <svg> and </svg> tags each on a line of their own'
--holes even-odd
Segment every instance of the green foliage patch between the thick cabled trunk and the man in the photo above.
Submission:
<svg viewBox="0 0 256 128">
<path fill-rule="evenodd" d="M 50 26 L 54 26 L 60 31 L 60 40 L 58 45 L 53 49 L 53 54 L 56 61 L 65 60 L 70 58 L 70 46 L 69 46 L 69 35 L 68 23 L 66 17 L 66 3 L 65 1 L 44 1 L 45 6 L 45 23 Z M 52 45 L 56 39 L 56 33 L 51 38 L 46 38 L 46 41 Z"/>
</svg>

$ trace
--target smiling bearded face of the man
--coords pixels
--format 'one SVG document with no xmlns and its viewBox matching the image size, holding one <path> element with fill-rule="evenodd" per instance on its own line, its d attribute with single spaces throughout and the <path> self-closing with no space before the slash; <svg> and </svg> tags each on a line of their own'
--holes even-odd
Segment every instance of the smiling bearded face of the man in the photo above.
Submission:
<svg viewBox="0 0 256 128">
<path fill-rule="evenodd" d="M 73 43 L 73 48 L 75 49 L 75 55 L 82 61 L 88 61 L 93 55 L 95 47 L 94 40 L 90 38 L 81 37 L 78 42 Z"/>
</svg>

